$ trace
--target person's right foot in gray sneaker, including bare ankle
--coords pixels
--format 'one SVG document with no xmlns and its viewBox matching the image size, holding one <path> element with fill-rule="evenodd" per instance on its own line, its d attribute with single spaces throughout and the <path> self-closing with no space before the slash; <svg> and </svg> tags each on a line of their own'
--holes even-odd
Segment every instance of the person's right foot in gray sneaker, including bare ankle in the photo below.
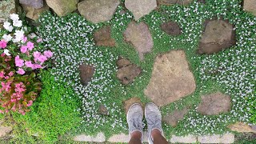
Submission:
<svg viewBox="0 0 256 144">
<path fill-rule="evenodd" d="M 145 117 L 148 126 L 150 144 L 167 144 L 162 136 L 162 115 L 158 106 L 150 102 L 145 106 Z"/>
</svg>

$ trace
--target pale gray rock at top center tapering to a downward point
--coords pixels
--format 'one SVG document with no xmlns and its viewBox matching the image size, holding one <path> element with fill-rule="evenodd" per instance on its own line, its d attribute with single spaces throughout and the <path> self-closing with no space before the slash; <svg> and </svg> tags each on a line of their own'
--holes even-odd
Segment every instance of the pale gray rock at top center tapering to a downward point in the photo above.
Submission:
<svg viewBox="0 0 256 144">
<path fill-rule="evenodd" d="M 134 14 L 134 19 L 137 21 L 146 14 L 150 14 L 157 7 L 156 0 L 126 0 L 125 6 Z"/>
</svg>

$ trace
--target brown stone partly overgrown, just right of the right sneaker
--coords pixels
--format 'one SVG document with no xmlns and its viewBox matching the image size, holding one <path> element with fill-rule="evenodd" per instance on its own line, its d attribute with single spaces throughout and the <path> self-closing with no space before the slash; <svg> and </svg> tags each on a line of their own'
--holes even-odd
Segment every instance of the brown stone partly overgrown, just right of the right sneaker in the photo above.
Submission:
<svg viewBox="0 0 256 144">
<path fill-rule="evenodd" d="M 183 110 L 174 110 L 173 113 L 165 115 L 162 121 L 170 124 L 170 126 L 177 126 L 178 121 L 182 120 L 188 111 L 186 108 Z"/>
</svg>

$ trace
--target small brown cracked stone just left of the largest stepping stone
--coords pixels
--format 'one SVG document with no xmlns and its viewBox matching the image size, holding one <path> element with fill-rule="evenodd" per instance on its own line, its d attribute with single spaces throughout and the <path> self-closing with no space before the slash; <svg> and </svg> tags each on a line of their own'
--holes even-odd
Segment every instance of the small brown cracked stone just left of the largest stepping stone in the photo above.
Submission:
<svg viewBox="0 0 256 144">
<path fill-rule="evenodd" d="M 119 58 L 117 65 L 117 77 L 119 81 L 124 85 L 128 85 L 129 83 L 134 82 L 134 78 L 138 77 L 138 75 L 142 73 L 142 69 L 140 67 L 132 64 L 126 58 Z"/>
</svg>

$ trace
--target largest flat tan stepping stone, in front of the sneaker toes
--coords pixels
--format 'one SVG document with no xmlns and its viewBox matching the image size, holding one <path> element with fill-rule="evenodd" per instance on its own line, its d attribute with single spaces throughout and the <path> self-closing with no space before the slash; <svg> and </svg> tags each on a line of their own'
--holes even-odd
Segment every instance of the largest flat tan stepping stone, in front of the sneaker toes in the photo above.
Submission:
<svg viewBox="0 0 256 144">
<path fill-rule="evenodd" d="M 195 87 L 185 52 L 170 50 L 155 58 L 150 83 L 144 94 L 158 106 L 165 106 L 192 94 Z"/>
</svg>

